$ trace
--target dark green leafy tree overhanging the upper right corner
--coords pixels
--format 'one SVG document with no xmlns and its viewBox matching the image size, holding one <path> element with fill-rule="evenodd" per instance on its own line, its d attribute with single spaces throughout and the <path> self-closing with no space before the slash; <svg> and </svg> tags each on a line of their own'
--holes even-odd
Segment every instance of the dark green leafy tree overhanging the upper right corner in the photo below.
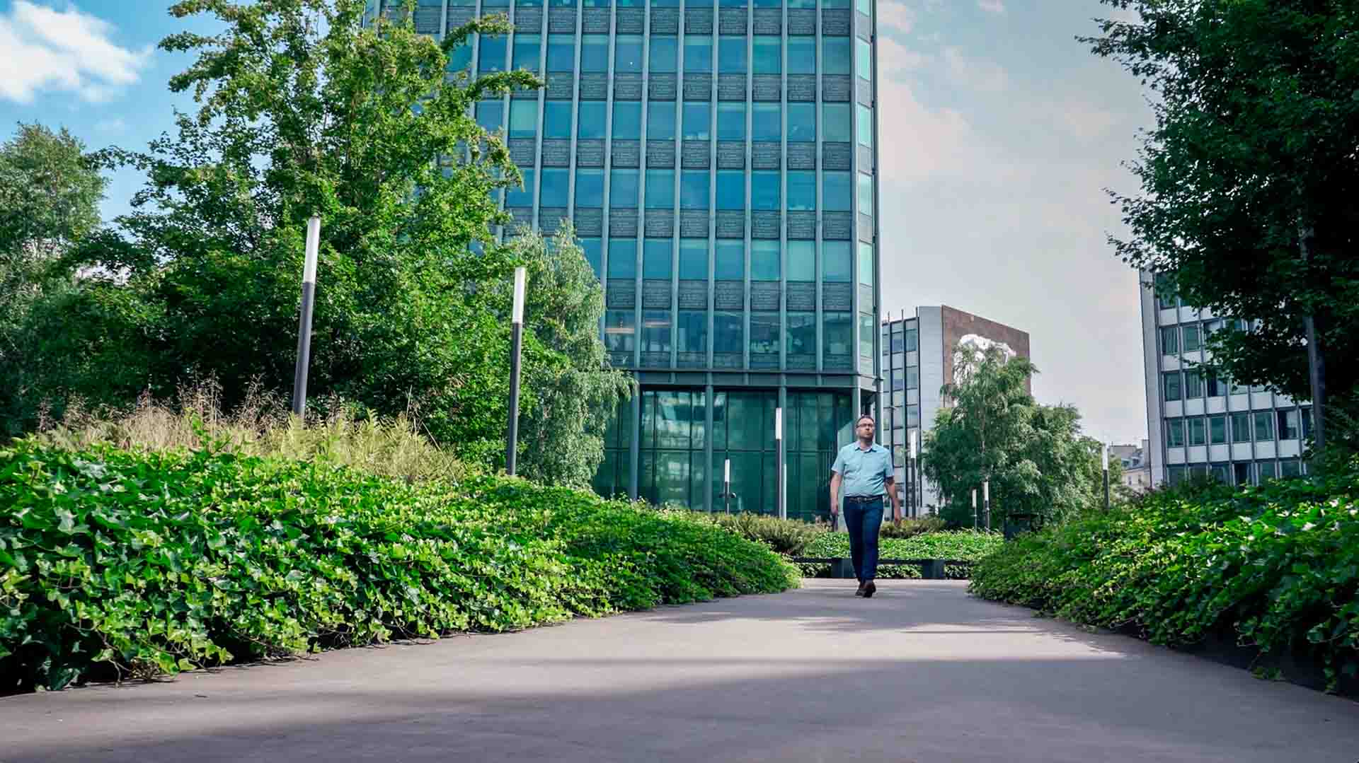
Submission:
<svg viewBox="0 0 1359 763">
<path fill-rule="evenodd" d="M 1359 7 L 1349 0 L 1101 0 L 1135 8 L 1079 38 L 1157 94 L 1112 193 L 1125 262 L 1162 293 L 1256 322 L 1210 341 L 1212 368 L 1321 409 L 1359 384 Z M 1309 337 L 1310 331 L 1310 337 Z M 1309 380 L 1307 352 L 1318 377 Z M 1321 418 L 1318 417 L 1318 433 Z"/>
</svg>

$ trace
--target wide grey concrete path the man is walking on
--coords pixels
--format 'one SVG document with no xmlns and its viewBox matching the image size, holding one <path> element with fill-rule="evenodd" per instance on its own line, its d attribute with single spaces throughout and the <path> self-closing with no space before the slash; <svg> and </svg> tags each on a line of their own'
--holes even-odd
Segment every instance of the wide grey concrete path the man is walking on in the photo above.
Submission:
<svg viewBox="0 0 1359 763">
<path fill-rule="evenodd" d="M 1359 703 L 978 601 L 777 596 L 0 699 L 0 760 L 1359 760 Z"/>
</svg>

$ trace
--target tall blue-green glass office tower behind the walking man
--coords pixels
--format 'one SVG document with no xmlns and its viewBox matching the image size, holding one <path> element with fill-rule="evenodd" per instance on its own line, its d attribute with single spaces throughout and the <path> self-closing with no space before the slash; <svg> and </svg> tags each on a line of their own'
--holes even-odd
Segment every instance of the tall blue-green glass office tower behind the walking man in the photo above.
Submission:
<svg viewBox="0 0 1359 763">
<path fill-rule="evenodd" d="M 788 516 L 825 515 L 855 411 L 877 410 L 872 0 L 420 0 L 419 31 L 515 31 L 450 67 L 546 87 L 477 105 L 525 176 L 504 205 L 563 220 L 605 288 L 612 362 L 637 382 L 602 494 L 771 513 L 784 410 Z"/>
</svg>

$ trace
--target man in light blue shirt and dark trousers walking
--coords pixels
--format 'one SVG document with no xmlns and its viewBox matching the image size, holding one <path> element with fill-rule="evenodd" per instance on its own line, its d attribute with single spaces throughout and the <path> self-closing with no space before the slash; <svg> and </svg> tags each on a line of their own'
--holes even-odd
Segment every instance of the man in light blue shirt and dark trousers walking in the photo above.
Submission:
<svg viewBox="0 0 1359 763">
<path fill-rule="evenodd" d="M 859 578 L 855 596 L 868 599 L 878 591 L 878 529 L 882 525 L 882 493 L 892 497 L 893 519 L 901 521 L 901 496 L 893 489 L 892 453 L 872 441 L 874 421 L 860 415 L 855 421 L 855 441 L 836 456 L 830 467 L 830 521 L 840 513 L 840 487 L 845 497 L 845 527 L 849 529 L 849 557 Z"/>
</svg>

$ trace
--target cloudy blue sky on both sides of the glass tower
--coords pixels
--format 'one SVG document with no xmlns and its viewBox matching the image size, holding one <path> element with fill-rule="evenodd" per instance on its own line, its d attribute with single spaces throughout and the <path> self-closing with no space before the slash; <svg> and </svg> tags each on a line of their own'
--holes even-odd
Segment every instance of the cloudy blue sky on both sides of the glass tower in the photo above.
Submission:
<svg viewBox="0 0 1359 763">
<path fill-rule="evenodd" d="M 878 0 L 883 311 L 949 304 L 1029 331 L 1040 401 L 1067 402 L 1090 434 L 1146 436 L 1137 277 L 1102 189 L 1151 125 L 1137 81 L 1075 35 L 1095 0 Z M 144 148 L 173 126 L 156 50 L 182 29 L 169 0 L 0 0 L 0 121 L 63 125 L 90 148 Z M 76 41 L 76 42 L 73 42 Z M 12 52 L 12 53 L 11 53 Z M 141 178 L 113 176 L 106 217 Z"/>
</svg>

